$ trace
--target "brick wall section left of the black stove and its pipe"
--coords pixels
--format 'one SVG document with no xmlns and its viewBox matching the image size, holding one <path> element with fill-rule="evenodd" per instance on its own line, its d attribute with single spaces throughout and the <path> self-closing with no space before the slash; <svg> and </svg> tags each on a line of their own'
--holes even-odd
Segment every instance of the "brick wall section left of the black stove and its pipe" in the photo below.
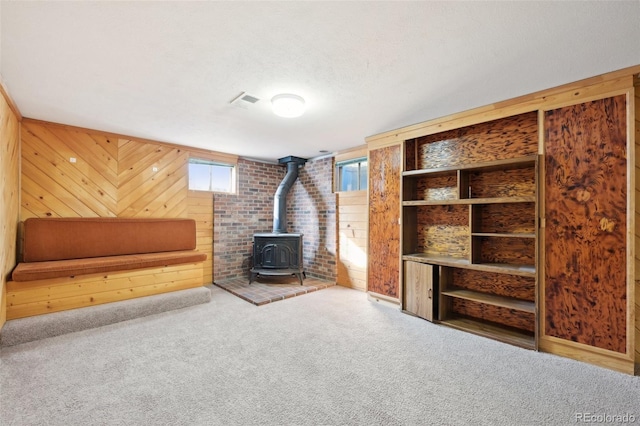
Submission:
<svg viewBox="0 0 640 426">
<path fill-rule="evenodd" d="M 278 164 L 238 159 L 238 193 L 213 197 L 213 278 L 248 276 L 253 234 L 273 229 L 273 195 L 284 177 Z"/>
</svg>

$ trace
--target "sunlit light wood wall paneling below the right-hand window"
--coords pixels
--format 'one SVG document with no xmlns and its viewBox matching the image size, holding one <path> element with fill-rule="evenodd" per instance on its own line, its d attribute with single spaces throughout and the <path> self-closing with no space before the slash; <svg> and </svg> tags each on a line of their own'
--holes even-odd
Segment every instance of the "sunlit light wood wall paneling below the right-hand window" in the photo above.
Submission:
<svg viewBox="0 0 640 426">
<path fill-rule="evenodd" d="M 338 285 L 366 290 L 367 193 L 338 193 Z"/>
</svg>

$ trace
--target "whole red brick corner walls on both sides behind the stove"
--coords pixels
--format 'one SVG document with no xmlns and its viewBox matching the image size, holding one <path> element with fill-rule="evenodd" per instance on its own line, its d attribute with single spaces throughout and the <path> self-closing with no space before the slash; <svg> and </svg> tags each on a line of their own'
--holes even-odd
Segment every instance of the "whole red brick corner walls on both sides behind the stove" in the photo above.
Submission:
<svg viewBox="0 0 640 426">
<path fill-rule="evenodd" d="M 247 276 L 253 234 L 273 230 L 273 195 L 286 167 L 238 160 L 238 194 L 214 194 L 213 278 Z M 331 158 L 309 161 L 287 196 L 287 231 L 304 234 L 308 276 L 335 280 L 336 197 Z"/>
</svg>

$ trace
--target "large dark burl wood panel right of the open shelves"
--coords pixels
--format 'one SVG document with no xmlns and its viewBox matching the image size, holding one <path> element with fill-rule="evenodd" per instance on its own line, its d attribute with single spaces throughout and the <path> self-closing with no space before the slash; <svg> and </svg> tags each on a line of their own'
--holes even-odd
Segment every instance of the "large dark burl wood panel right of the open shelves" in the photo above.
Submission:
<svg viewBox="0 0 640 426">
<path fill-rule="evenodd" d="M 624 353 L 624 95 L 545 113 L 545 334 Z"/>
</svg>

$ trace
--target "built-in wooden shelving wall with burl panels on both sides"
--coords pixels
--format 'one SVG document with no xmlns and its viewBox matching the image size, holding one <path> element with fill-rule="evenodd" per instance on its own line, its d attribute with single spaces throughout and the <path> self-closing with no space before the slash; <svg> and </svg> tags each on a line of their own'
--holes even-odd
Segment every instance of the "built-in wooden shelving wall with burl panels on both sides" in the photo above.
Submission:
<svg viewBox="0 0 640 426">
<path fill-rule="evenodd" d="M 378 164 L 370 293 L 456 329 L 638 374 L 639 72 L 367 138 Z"/>
</svg>

